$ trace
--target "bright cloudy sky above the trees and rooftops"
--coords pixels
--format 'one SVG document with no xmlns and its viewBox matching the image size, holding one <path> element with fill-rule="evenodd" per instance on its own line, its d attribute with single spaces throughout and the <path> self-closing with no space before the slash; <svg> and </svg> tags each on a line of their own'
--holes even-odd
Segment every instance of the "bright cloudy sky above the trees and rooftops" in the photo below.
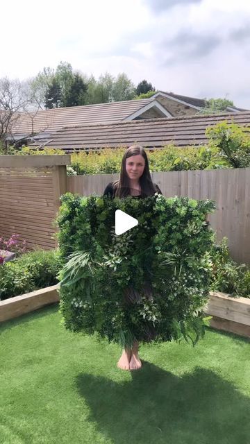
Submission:
<svg viewBox="0 0 250 444">
<path fill-rule="evenodd" d="M 250 109 L 249 0 L 12 0 L 1 17 L 0 77 L 29 78 L 62 60 Z"/>
</svg>

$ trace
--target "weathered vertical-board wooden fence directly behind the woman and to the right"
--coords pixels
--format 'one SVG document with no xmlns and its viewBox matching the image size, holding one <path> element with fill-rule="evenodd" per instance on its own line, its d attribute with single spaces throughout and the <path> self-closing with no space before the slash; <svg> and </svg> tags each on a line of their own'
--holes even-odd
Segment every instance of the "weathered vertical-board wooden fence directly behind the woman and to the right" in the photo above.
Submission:
<svg viewBox="0 0 250 444">
<path fill-rule="evenodd" d="M 151 176 L 166 197 L 215 200 L 216 210 L 208 220 L 217 232 L 217 241 L 228 237 L 233 259 L 250 264 L 250 168 L 169 171 Z M 108 182 L 117 178 L 119 174 L 68 176 L 67 189 L 85 196 L 103 194 Z"/>
</svg>

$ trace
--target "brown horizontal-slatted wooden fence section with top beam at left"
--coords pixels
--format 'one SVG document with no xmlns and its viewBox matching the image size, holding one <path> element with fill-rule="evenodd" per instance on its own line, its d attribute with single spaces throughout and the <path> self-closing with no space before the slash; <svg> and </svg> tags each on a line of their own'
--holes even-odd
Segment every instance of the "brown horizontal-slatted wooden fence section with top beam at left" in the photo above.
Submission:
<svg viewBox="0 0 250 444">
<path fill-rule="evenodd" d="M 53 220 L 67 191 L 70 155 L 0 156 L 0 237 L 19 234 L 27 250 L 55 248 Z"/>
</svg>

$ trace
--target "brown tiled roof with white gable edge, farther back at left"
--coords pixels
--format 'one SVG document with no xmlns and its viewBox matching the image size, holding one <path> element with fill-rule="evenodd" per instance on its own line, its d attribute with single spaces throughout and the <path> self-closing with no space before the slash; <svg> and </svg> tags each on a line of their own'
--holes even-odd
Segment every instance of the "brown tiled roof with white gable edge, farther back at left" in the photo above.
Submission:
<svg viewBox="0 0 250 444">
<path fill-rule="evenodd" d="M 90 123 L 114 123 L 129 119 L 133 114 L 144 112 L 144 108 L 158 108 L 160 115 L 167 116 L 163 106 L 156 99 L 129 100 L 122 102 L 99 103 L 66 108 L 40 110 L 37 113 L 22 112 L 12 128 L 12 134 L 40 133 L 44 130 L 60 130 L 64 126 L 79 126 Z M 170 114 L 169 114 L 170 115 Z"/>
</svg>

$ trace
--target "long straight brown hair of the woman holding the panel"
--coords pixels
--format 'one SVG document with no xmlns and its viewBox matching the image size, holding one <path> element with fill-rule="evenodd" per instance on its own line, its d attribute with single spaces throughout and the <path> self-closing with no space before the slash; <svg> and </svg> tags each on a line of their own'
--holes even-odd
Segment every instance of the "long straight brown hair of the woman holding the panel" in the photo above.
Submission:
<svg viewBox="0 0 250 444">
<path fill-rule="evenodd" d="M 132 145 L 129 148 L 126 149 L 124 156 L 122 157 L 122 165 L 121 165 L 121 171 L 120 176 L 118 180 L 115 180 L 113 183 L 113 187 L 115 190 L 115 197 L 126 197 L 130 194 L 130 184 L 129 184 L 129 178 L 128 174 L 126 172 L 126 159 L 128 157 L 131 157 L 133 155 L 142 155 L 145 160 L 145 166 L 144 171 L 142 173 L 142 176 L 139 178 L 139 183 L 141 187 L 141 194 L 143 197 L 147 196 L 153 196 L 153 194 L 156 193 L 156 188 L 153 185 L 151 174 L 149 171 L 149 160 L 147 158 L 147 153 L 140 145 Z"/>
</svg>

